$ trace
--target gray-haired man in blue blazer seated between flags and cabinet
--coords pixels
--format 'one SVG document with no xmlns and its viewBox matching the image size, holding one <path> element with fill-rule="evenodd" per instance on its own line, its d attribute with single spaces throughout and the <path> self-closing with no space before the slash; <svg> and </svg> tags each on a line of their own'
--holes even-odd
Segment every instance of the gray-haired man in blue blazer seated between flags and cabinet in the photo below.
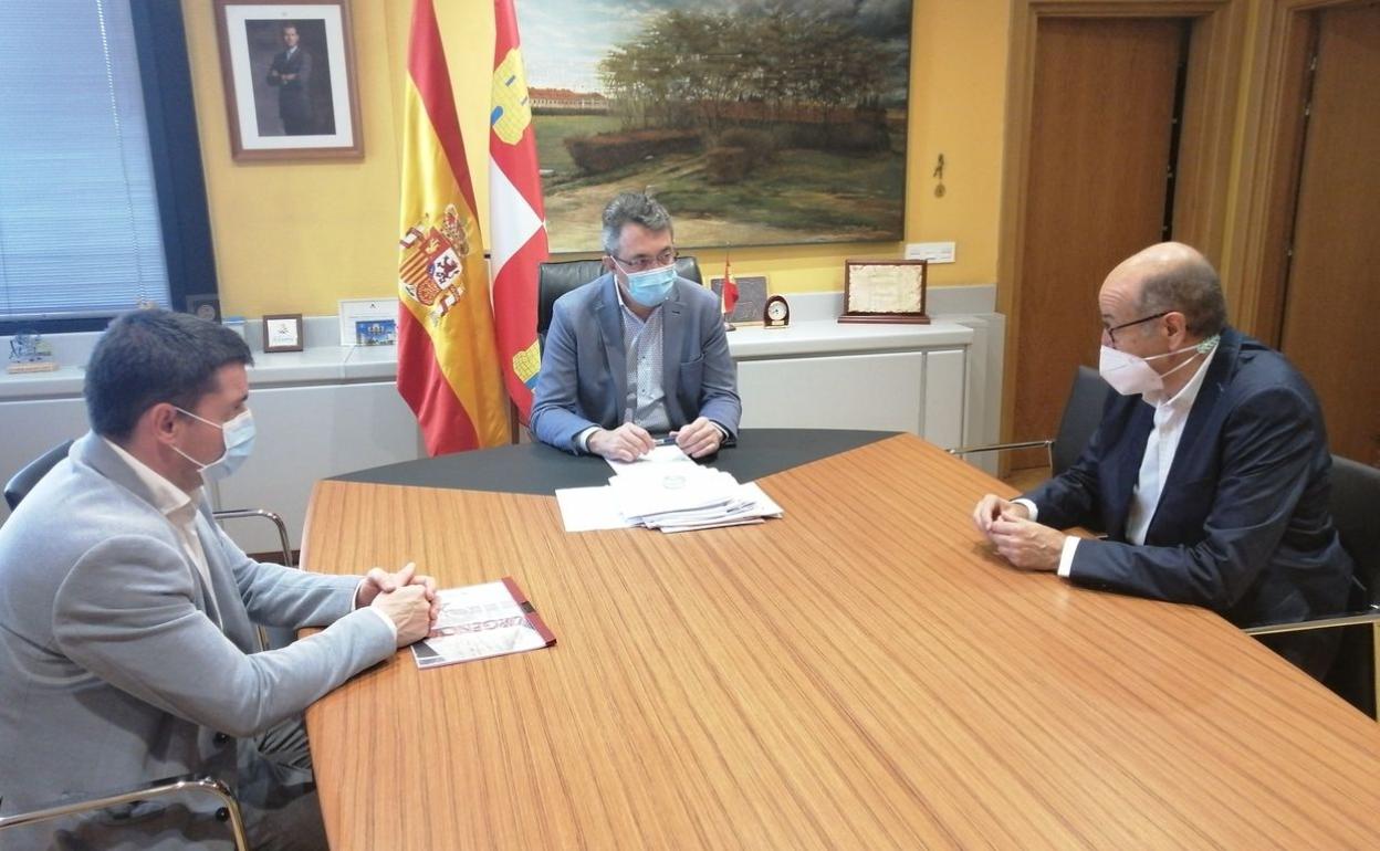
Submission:
<svg viewBox="0 0 1380 851">
<path fill-rule="evenodd" d="M 609 204 L 603 246 L 609 272 L 552 308 L 533 432 L 614 461 L 668 433 L 693 458 L 716 452 L 742 415 L 719 299 L 676 276 L 671 215 L 646 194 Z"/>
</svg>

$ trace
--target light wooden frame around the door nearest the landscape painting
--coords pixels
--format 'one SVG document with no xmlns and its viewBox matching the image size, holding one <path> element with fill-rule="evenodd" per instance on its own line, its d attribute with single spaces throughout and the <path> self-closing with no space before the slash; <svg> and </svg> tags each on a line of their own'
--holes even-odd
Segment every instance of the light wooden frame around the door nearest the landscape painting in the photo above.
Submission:
<svg viewBox="0 0 1380 851">
<path fill-rule="evenodd" d="M 1296 0 L 1308 1 L 1308 0 Z M 1035 36 L 1042 18 L 1190 18 L 1191 55 L 1174 203 L 1174 234 L 1220 259 L 1227 225 L 1232 134 L 1249 0 L 1012 0 L 1006 68 L 998 310 L 1006 314 L 1003 375 L 1016 374 L 1025 251 L 1025 188 L 1035 101 Z M 1228 294 L 1230 295 L 1230 294 Z M 1016 385 L 1002 382 L 1002 437 L 1014 428 Z"/>
</svg>

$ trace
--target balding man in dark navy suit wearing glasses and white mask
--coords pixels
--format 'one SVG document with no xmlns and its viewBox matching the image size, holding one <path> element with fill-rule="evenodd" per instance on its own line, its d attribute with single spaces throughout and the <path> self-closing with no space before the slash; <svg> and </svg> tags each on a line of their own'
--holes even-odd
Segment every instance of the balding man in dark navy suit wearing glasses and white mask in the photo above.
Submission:
<svg viewBox="0 0 1380 851">
<path fill-rule="evenodd" d="M 1097 432 L 1029 494 L 983 497 L 978 528 L 1017 567 L 1242 626 L 1341 611 L 1354 568 L 1328 513 L 1332 458 L 1308 382 L 1227 326 L 1217 273 L 1188 246 L 1126 259 L 1097 301 L 1101 374 L 1116 390 Z M 1107 539 L 1056 531 L 1072 525 Z M 1321 676 L 1334 640 L 1267 643 Z"/>
</svg>

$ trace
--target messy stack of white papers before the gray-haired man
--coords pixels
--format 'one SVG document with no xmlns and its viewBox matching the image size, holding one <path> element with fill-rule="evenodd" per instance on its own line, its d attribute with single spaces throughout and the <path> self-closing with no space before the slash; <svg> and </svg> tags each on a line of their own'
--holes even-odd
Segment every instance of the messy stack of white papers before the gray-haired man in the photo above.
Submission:
<svg viewBox="0 0 1380 851">
<path fill-rule="evenodd" d="M 781 506 L 756 483 L 740 484 L 730 473 L 702 468 L 675 445 L 609 465 L 617 474 L 606 487 L 556 491 L 567 532 L 632 525 L 687 532 L 781 516 Z"/>
</svg>

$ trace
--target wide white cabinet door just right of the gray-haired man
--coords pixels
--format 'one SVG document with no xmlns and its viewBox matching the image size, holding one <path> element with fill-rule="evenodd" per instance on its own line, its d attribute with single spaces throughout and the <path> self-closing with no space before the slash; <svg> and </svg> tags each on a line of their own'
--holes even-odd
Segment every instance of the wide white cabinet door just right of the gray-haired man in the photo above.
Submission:
<svg viewBox="0 0 1380 851">
<path fill-rule="evenodd" d="M 740 361 L 742 428 L 923 436 L 923 352 Z"/>
</svg>

